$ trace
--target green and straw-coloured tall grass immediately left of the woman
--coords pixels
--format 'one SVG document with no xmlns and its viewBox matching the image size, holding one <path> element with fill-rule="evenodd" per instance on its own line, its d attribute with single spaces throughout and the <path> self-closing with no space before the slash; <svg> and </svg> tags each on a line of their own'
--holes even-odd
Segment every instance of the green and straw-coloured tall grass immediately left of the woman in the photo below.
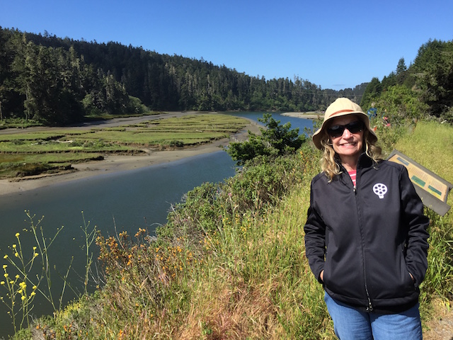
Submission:
<svg viewBox="0 0 453 340">
<path fill-rule="evenodd" d="M 210 275 L 193 295 L 188 339 L 333 339 L 322 287 L 304 256 L 311 175 L 279 208 L 224 223 Z"/>
</svg>

